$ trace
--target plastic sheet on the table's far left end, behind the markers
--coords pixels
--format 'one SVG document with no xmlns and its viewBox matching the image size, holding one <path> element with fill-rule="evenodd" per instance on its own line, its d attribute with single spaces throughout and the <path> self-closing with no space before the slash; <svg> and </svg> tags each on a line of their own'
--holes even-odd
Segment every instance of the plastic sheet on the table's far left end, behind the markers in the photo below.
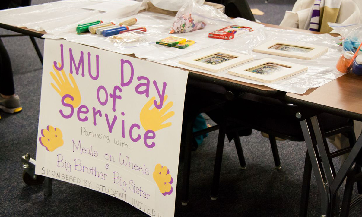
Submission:
<svg viewBox="0 0 362 217">
<path fill-rule="evenodd" d="M 27 27 L 36 31 L 60 34 L 75 30 L 78 24 L 96 20 L 110 20 L 138 13 L 142 3 L 118 8 L 110 12 L 84 9 L 110 0 L 64 0 L 0 11 L 0 22 Z"/>
</svg>

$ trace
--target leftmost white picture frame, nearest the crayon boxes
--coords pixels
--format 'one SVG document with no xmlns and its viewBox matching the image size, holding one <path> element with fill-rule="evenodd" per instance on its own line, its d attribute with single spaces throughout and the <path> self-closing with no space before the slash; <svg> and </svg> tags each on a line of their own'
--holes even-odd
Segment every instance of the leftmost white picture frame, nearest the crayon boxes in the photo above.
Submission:
<svg viewBox="0 0 362 217">
<path fill-rule="evenodd" d="M 178 63 L 210 72 L 220 72 L 253 59 L 249 55 L 214 49 L 181 59 Z"/>
</svg>

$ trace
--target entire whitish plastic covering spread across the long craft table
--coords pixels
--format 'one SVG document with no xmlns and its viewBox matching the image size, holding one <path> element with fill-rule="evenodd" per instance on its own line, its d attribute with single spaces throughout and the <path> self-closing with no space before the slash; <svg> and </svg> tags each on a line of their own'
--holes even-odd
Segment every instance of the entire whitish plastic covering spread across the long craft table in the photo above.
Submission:
<svg viewBox="0 0 362 217">
<path fill-rule="evenodd" d="M 126 17 L 120 18 L 122 16 L 118 13 L 118 11 L 101 13 L 98 10 L 80 9 L 85 4 L 91 4 L 90 2 L 92 2 L 92 4 L 98 4 L 105 1 L 107 0 L 66 0 L 24 8 L 8 9 L 0 12 L 0 22 L 14 26 L 26 26 L 38 31 L 44 29 L 47 32 L 53 33 L 44 35 L 45 38 L 64 38 L 71 42 L 98 47 L 104 50 L 114 51 L 121 54 L 135 54 L 135 56 L 139 58 L 145 58 L 150 61 L 185 69 L 191 69 L 194 71 L 205 72 L 219 77 L 230 78 L 232 80 L 265 85 L 270 88 L 291 93 L 305 93 L 310 88 L 319 87 L 344 75 L 344 73 L 340 73 L 336 70 L 336 63 L 341 53 L 341 47 L 335 43 L 335 40 L 331 35 L 308 34 L 299 31 L 267 27 L 261 28 L 263 25 L 241 18 L 236 18 L 234 20 L 220 20 L 217 25 L 207 25 L 204 29 L 189 33 L 172 34 L 174 36 L 188 38 L 189 40 L 196 41 L 195 44 L 186 49 L 178 49 L 155 44 L 155 41 L 171 35 L 168 34 L 168 32 L 173 23 L 174 17 L 151 12 L 139 13 L 132 16 L 138 19 L 137 25 L 132 27 L 146 27 L 148 33 L 145 35 L 145 40 L 142 41 L 142 44 L 136 44 L 136 46 L 134 43 L 130 44 L 130 46 L 127 46 L 127 43 L 111 43 L 101 35 L 76 34 L 76 24 L 90 20 L 93 21 L 94 18 L 104 17 L 104 21 L 114 22 L 120 22 L 127 19 Z M 65 2 L 67 3 L 66 5 L 64 4 Z M 68 10 L 66 10 L 65 7 L 67 7 Z M 62 11 L 62 9 L 64 11 Z M 138 9 L 132 11 L 131 13 L 138 11 Z M 87 16 L 85 16 L 84 10 L 87 11 Z M 72 11 L 72 13 L 70 13 L 70 11 Z M 43 13 L 45 13 L 46 17 L 49 18 L 48 20 L 43 19 Z M 89 18 L 89 13 L 92 15 L 92 18 Z M 63 24 L 67 23 L 67 25 L 54 28 L 54 25 L 58 22 L 64 22 Z M 28 25 L 24 25 L 26 23 L 28 23 Z M 240 37 L 230 41 L 208 38 L 208 33 L 211 31 L 221 29 L 228 25 L 249 26 L 252 27 L 254 31 L 245 32 L 244 34 L 240 35 Z M 300 60 L 255 53 L 252 51 L 253 48 L 259 44 L 273 39 L 323 45 L 329 47 L 329 49 L 327 54 L 324 54 L 323 56 L 320 56 L 314 60 Z M 277 82 L 264 84 L 262 82 L 249 80 L 247 78 L 229 75 L 227 70 L 219 73 L 212 73 L 202 69 L 178 64 L 178 60 L 184 58 L 185 55 L 194 55 L 200 50 L 205 51 L 207 49 L 211 50 L 214 48 L 253 55 L 255 60 L 268 57 L 306 65 L 309 68 L 306 72 L 299 73 Z"/>
</svg>

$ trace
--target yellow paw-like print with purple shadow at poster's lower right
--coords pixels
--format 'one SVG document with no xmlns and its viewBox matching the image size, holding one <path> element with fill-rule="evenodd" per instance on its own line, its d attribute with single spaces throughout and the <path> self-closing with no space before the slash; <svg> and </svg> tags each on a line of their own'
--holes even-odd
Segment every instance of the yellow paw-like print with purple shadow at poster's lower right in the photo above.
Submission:
<svg viewBox="0 0 362 217">
<path fill-rule="evenodd" d="M 155 171 L 153 172 L 153 179 L 155 180 L 157 186 L 159 187 L 162 195 L 171 195 L 172 193 L 172 182 L 173 178 L 170 174 L 170 171 L 167 169 L 167 166 L 161 166 L 157 164 L 155 166 Z"/>
</svg>

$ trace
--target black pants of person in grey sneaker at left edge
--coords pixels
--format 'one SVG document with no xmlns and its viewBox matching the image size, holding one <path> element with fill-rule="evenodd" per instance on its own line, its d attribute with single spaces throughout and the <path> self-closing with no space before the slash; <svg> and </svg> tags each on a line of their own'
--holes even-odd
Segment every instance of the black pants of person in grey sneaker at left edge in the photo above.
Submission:
<svg viewBox="0 0 362 217">
<path fill-rule="evenodd" d="M 7 9 L 10 0 L 0 0 L 0 9 Z M 14 79 L 10 58 L 3 41 L 0 38 L 0 93 L 3 95 L 13 95 Z"/>
</svg>

